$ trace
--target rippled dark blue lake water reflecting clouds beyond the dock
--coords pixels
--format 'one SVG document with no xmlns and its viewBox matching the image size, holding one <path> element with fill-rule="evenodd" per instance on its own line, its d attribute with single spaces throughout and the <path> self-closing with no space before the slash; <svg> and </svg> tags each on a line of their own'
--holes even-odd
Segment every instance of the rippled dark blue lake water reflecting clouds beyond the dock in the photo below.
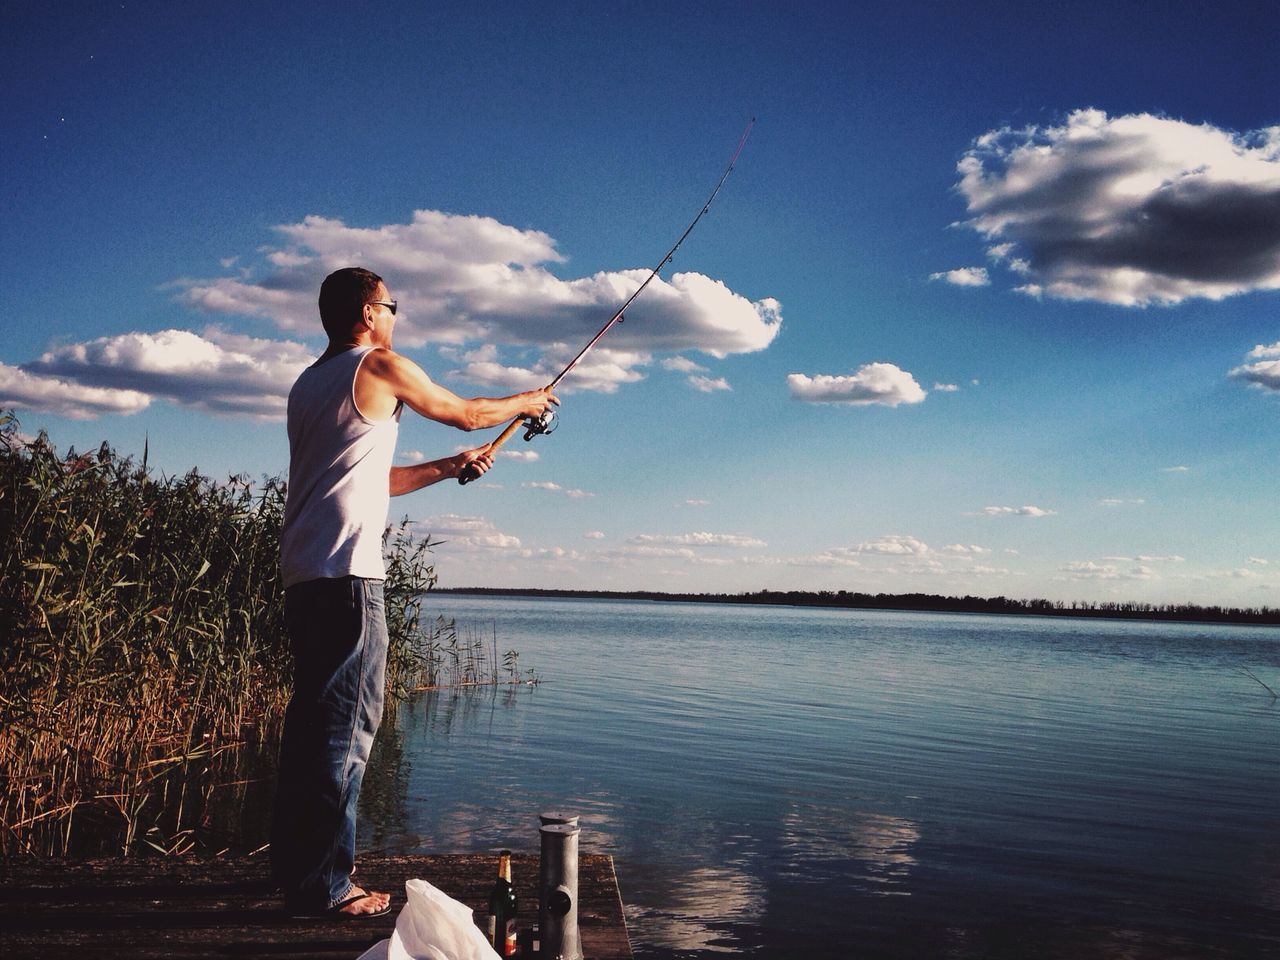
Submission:
<svg viewBox="0 0 1280 960">
<path fill-rule="evenodd" d="M 435 595 L 536 687 L 380 733 L 360 845 L 612 854 L 640 957 L 1280 956 L 1280 631 Z"/>
</svg>

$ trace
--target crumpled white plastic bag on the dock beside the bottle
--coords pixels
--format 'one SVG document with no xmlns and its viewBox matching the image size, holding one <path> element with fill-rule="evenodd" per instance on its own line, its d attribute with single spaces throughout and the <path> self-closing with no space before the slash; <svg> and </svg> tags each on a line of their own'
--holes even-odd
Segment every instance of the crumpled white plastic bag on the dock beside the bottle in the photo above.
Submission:
<svg viewBox="0 0 1280 960">
<path fill-rule="evenodd" d="M 499 960 L 466 904 L 420 879 L 404 883 L 404 897 L 390 940 L 358 960 Z"/>
</svg>

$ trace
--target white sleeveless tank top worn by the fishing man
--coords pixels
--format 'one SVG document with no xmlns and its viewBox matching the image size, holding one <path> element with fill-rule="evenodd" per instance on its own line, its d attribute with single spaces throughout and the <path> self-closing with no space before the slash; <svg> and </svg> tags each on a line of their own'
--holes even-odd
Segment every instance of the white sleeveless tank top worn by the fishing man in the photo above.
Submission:
<svg viewBox="0 0 1280 960">
<path fill-rule="evenodd" d="M 383 531 L 403 404 L 388 420 L 356 407 L 356 372 L 372 347 L 302 371 L 289 390 L 289 489 L 280 530 L 284 586 L 321 577 L 385 580 Z"/>
</svg>

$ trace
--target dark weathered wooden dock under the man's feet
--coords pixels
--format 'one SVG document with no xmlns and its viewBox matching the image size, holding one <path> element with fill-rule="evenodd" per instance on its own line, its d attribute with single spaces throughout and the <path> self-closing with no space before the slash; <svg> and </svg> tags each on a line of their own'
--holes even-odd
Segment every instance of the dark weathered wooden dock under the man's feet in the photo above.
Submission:
<svg viewBox="0 0 1280 960">
<path fill-rule="evenodd" d="M 347 957 L 389 937 L 404 881 L 425 879 L 484 923 L 497 855 L 361 856 L 356 879 L 393 893 L 375 920 L 293 920 L 271 890 L 266 858 L 156 858 L 0 864 L 0 956 Z M 512 858 L 521 925 L 538 918 L 538 858 Z M 586 960 L 630 960 L 613 858 L 579 859 L 579 929 Z"/>
</svg>

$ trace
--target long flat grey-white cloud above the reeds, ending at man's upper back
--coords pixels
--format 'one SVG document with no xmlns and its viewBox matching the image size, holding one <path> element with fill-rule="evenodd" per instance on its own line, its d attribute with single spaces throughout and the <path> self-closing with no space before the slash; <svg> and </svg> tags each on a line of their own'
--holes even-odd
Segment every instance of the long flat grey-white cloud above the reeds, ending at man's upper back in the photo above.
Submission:
<svg viewBox="0 0 1280 960">
<path fill-rule="evenodd" d="M 88 396 L 83 390 L 96 388 L 104 393 L 93 396 L 106 398 L 99 406 L 114 398 L 129 408 L 113 412 L 136 412 L 146 406 L 138 398 L 160 397 L 215 413 L 278 420 L 284 416 L 289 388 L 314 358 L 314 351 L 301 343 L 242 337 L 214 326 L 202 335 L 160 330 L 64 344 L 22 369 L 46 384 L 70 384 L 68 398 L 47 392 L 40 408 L 51 412 L 68 403 L 83 407 Z"/>
</svg>

